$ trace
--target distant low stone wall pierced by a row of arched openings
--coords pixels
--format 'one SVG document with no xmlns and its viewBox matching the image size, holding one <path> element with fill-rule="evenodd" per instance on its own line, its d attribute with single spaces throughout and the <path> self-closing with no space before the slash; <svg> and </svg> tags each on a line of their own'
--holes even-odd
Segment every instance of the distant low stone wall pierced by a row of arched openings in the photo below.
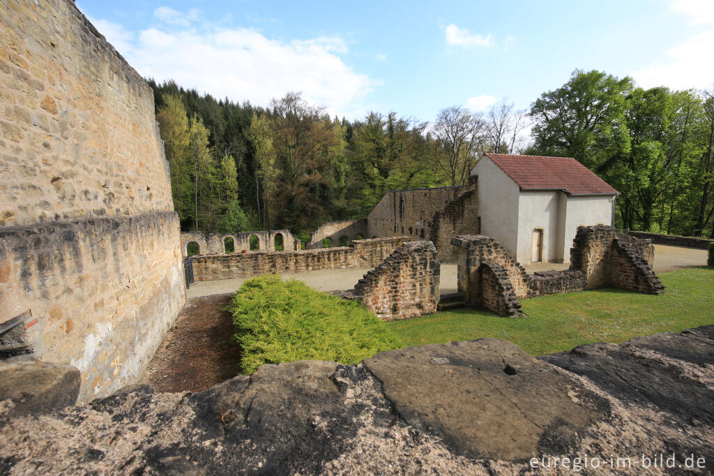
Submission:
<svg viewBox="0 0 714 476">
<path fill-rule="evenodd" d="M 190 242 L 198 244 L 198 254 L 221 254 L 226 253 L 226 238 L 233 239 L 234 252 L 242 252 L 251 249 L 251 237 L 256 237 L 258 250 L 274 251 L 276 247 L 276 236 L 283 237 L 283 251 L 296 249 L 299 240 L 293 237 L 290 230 L 271 229 L 260 232 L 240 232 L 240 233 L 209 233 L 203 232 L 181 232 L 181 250 L 183 257 L 188 256 L 186 247 Z"/>
</svg>

